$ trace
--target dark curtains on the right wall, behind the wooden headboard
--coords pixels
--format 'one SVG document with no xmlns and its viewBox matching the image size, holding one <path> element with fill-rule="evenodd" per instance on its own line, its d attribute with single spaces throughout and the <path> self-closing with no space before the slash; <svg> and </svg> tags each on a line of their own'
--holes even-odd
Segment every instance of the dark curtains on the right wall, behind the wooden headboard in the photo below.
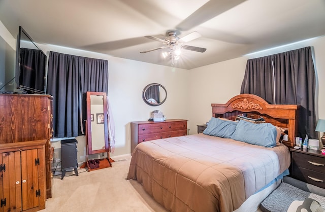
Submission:
<svg viewBox="0 0 325 212">
<path fill-rule="evenodd" d="M 241 93 L 255 94 L 271 104 L 300 104 L 298 135 L 318 137 L 311 47 L 247 60 Z"/>
</svg>

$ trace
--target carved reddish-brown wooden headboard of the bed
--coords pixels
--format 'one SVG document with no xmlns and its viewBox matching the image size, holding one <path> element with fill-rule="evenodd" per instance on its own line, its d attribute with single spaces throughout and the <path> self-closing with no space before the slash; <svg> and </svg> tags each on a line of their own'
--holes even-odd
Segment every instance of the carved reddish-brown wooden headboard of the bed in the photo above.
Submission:
<svg viewBox="0 0 325 212">
<path fill-rule="evenodd" d="M 298 133 L 297 104 L 269 104 L 263 98 L 253 94 L 234 96 L 225 104 L 211 104 L 213 117 L 235 120 L 240 114 L 247 113 L 247 117 L 262 116 L 266 122 L 282 127 L 288 131 L 288 141 L 282 144 L 291 148 L 295 145 Z"/>
</svg>

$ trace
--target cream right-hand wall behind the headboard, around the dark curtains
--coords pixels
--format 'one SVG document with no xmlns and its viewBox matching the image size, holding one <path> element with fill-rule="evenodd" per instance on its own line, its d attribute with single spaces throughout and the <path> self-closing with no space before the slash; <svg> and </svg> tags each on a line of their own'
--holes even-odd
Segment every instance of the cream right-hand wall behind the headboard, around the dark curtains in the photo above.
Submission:
<svg viewBox="0 0 325 212">
<path fill-rule="evenodd" d="M 297 44 L 278 47 L 265 52 L 243 56 L 203 67 L 189 72 L 190 128 L 205 124 L 212 116 L 211 103 L 225 103 L 234 95 L 240 94 L 247 59 L 276 54 L 311 46 L 316 72 L 316 117 L 325 119 L 325 37 Z M 191 131 L 193 133 L 194 130 Z"/>
</svg>

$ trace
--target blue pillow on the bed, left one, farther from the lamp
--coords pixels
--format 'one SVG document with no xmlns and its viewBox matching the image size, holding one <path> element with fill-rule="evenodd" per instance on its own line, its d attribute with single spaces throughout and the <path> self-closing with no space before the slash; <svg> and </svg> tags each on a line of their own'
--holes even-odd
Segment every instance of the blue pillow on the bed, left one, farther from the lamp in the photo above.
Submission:
<svg viewBox="0 0 325 212">
<path fill-rule="evenodd" d="M 209 121 L 209 125 L 203 131 L 203 134 L 231 138 L 236 129 L 237 123 L 238 122 L 235 121 L 227 121 L 212 117 Z"/>
</svg>

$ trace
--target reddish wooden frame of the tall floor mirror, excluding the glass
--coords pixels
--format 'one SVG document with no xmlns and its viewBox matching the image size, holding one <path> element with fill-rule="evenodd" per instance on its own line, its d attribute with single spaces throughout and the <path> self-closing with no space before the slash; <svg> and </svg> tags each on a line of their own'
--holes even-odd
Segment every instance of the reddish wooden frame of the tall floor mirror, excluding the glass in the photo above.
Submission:
<svg viewBox="0 0 325 212">
<path fill-rule="evenodd" d="M 104 116 L 104 143 L 105 143 L 105 149 L 101 150 L 92 150 L 92 140 L 91 140 L 91 102 L 90 102 L 90 96 L 103 96 L 103 111 L 106 116 Z M 98 154 L 98 153 L 104 153 L 109 151 L 109 142 L 108 142 L 108 117 L 107 117 L 107 98 L 105 92 L 91 92 L 87 91 L 87 151 L 88 154 Z"/>
</svg>

